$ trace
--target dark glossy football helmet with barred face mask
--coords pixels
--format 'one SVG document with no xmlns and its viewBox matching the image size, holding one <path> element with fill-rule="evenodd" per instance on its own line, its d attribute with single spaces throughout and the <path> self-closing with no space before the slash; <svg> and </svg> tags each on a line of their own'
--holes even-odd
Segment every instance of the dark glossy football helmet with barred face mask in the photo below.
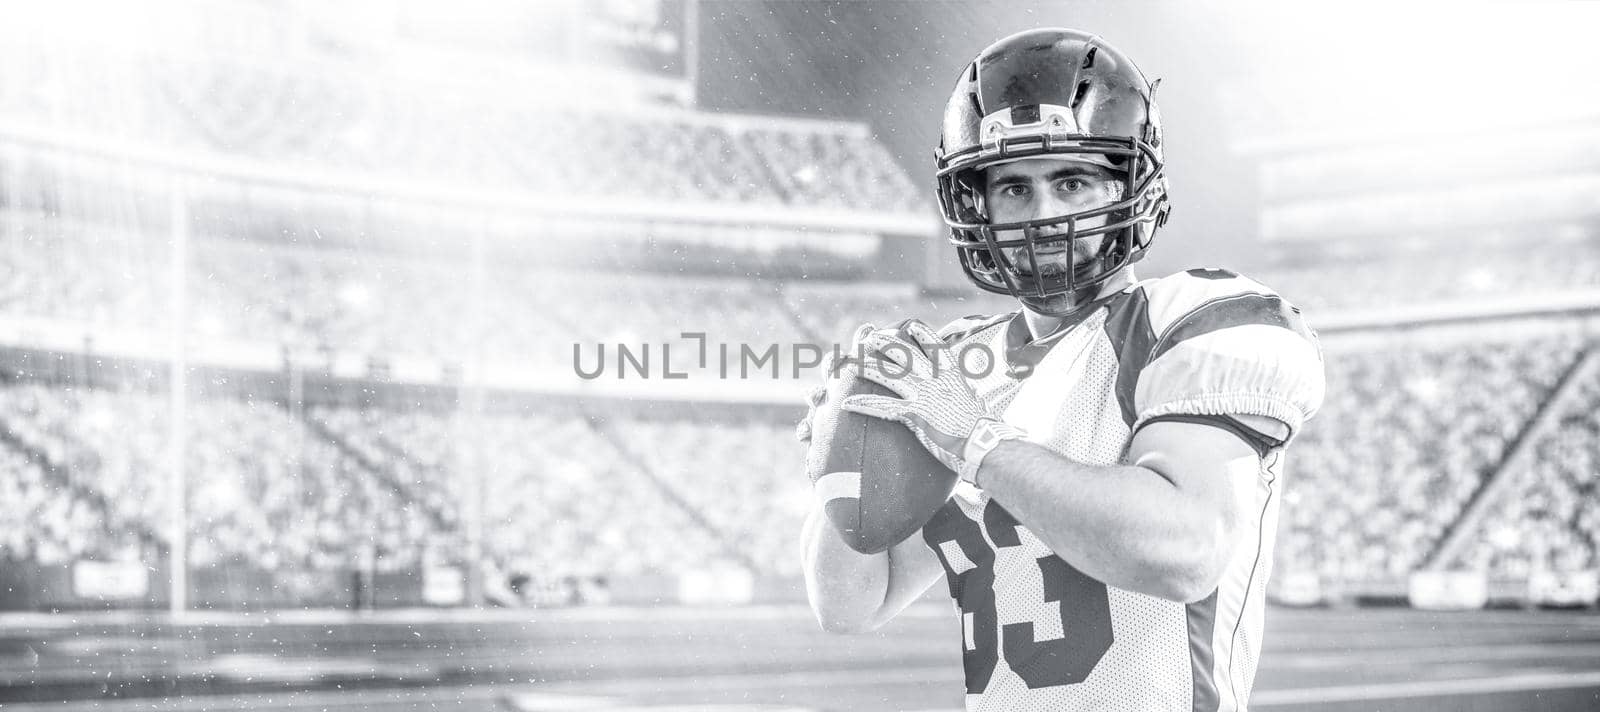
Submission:
<svg viewBox="0 0 1600 712">
<path fill-rule="evenodd" d="M 1019 32 L 973 59 L 946 104 L 934 157 L 939 210 L 962 270 L 974 285 L 1035 310 L 1069 314 L 1144 256 L 1171 210 L 1154 91 L 1125 54 L 1072 29 Z M 984 208 L 984 170 L 1034 157 L 1112 168 L 1123 179 L 1120 200 L 1061 216 L 992 222 Z M 1099 240 L 1099 248 L 1083 261 L 1072 246 L 1086 238 Z M 1067 243 L 1072 262 L 1059 274 L 1042 272 L 1035 251 L 1059 242 Z M 1059 294 L 1072 296 L 1066 309 L 1062 299 L 1051 299 Z"/>
</svg>

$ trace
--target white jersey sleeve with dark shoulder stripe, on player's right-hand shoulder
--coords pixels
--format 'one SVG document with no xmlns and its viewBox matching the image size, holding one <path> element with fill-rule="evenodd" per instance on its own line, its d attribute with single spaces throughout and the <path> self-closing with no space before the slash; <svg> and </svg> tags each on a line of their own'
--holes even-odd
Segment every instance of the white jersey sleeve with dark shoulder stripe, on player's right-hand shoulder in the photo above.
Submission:
<svg viewBox="0 0 1600 712">
<path fill-rule="evenodd" d="M 1322 406 L 1317 334 L 1272 290 L 1190 270 L 1149 293 L 1155 341 L 1133 392 L 1134 429 L 1171 414 L 1246 414 L 1277 419 L 1294 437 Z"/>
</svg>

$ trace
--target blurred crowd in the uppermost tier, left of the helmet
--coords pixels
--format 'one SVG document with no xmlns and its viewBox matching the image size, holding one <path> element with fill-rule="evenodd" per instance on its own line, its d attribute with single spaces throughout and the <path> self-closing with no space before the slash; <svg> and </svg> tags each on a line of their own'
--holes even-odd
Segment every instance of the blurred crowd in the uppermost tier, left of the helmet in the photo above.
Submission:
<svg viewBox="0 0 1600 712">
<path fill-rule="evenodd" d="M 890 213 L 925 205 L 862 125 L 581 101 L 552 107 L 539 93 L 402 82 L 373 75 L 370 62 L 326 58 L 88 51 L 93 61 L 0 50 L 8 120 L 189 160 L 246 158 L 435 190 Z"/>
</svg>

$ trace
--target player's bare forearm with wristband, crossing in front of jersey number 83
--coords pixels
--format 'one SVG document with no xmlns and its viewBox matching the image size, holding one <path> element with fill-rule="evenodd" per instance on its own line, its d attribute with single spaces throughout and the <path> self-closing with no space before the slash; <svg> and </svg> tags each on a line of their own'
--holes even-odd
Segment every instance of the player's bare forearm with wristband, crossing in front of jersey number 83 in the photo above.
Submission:
<svg viewBox="0 0 1600 712">
<path fill-rule="evenodd" d="M 1088 466 L 1013 440 L 984 458 L 979 482 L 1056 555 L 1120 589 L 1200 598 L 1226 560 L 1222 523 L 1146 467 Z"/>
</svg>

